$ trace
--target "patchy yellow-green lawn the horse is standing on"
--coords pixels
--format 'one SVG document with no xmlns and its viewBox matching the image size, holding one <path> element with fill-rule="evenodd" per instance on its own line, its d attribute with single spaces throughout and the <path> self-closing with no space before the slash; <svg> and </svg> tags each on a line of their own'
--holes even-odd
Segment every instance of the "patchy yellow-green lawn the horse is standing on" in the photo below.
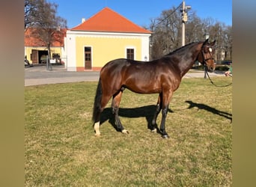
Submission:
<svg viewBox="0 0 256 187">
<path fill-rule="evenodd" d="M 213 78 L 216 85 L 231 81 Z M 109 102 L 102 135 L 94 137 L 96 87 L 25 87 L 25 186 L 231 186 L 231 86 L 183 79 L 169 106 L 167 140 L 147 129 L 158 95 L 128 90 L 120 115 L 129 134 L 109 123 Z"/>
</svg>

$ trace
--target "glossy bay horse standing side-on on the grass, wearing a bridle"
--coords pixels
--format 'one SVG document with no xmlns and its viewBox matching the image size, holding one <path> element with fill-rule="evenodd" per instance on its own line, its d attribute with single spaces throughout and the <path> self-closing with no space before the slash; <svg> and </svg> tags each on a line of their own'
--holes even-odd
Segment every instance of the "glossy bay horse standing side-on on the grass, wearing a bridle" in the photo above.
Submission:
<svg viewBox="0 0 256 187">
<path fill-rule="evenodd" d="M 165 132 L 165 118 L 171 96 L 179 88 L 182 77 L 195 61 L 207 65 L 208 69 L 215 69 L 213 59 L 215 42 L 216 40 L 209 43 L 207 39 L 204 42 L 189 43 L 153 61 L 133 61 L 125 58 L 109 61 L 100 70 L 100 79 L 94 99 L 95 135 L 100 135 L 100 114 L 111 97 L 115 125 L 120 132 L 129 133 L 124 129 L 118 116 L 121 96 L 127 88 L 135 93 L 159 93 L 156 111 L 149 129 L 156 132 L 156 117 L 162 109 L 159 132 L 162 138 L 169 138 Z"/>
</svg>

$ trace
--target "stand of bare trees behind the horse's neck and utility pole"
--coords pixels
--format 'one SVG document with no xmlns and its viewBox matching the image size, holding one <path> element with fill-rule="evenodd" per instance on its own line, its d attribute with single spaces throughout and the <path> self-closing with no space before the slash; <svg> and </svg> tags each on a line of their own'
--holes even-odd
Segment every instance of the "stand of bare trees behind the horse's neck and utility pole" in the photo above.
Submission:
<svg viewBox="0 0 256 187">
<path fill-rule="evenodd" d="M 159 58 L 181 46 L 181 16 L 178 7 L 163 10 L 159 18 L 151 19 L 150 31 L 153 32 L 153 44 L 150 47 L 150 58 Z M 189 20 L 186 22 L 185 43 L 204 40 L 204 34 L 210 34 L 210 40 L 216 40 L 216 61 L 231 60 L 232 55 L 232 27 L 226 26 L 210 17 L 200 19 L 195 11 L 189 10 Z"/>
</svg>

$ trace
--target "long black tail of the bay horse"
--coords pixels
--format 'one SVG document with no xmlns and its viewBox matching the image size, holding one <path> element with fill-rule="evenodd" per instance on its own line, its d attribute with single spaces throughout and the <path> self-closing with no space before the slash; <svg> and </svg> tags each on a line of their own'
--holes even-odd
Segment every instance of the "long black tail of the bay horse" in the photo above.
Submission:
<svg viewBox="0 0 256 187">
<path fill-rule="evenodd" d="M 101 109 L 102 96 L 103 96 L 103 89 L 101 86 L 101 80 L 99 79 L 96 95 L 94 98 L 94 112 L 93 112 L 93 117 L 92 117 L 92 120 L 94 121 L 94 123 L 97 122 L 98 120 L 100 120 L 100 109 Z"/>
</svg>

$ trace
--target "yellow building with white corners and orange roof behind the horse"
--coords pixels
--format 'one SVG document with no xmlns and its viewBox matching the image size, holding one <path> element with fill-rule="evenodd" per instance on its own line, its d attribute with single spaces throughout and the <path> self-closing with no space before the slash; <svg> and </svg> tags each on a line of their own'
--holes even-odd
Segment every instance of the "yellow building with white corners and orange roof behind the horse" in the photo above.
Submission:
<svg viewBox="0 0 256 187">
<path fill-rule="evenodd" d="M 105 7 L 67 30 L 65 65 L 68 71 L 97 71 L 116 58 L 148 61 L 150 35 L 150 31 Z"/>
</svg>

